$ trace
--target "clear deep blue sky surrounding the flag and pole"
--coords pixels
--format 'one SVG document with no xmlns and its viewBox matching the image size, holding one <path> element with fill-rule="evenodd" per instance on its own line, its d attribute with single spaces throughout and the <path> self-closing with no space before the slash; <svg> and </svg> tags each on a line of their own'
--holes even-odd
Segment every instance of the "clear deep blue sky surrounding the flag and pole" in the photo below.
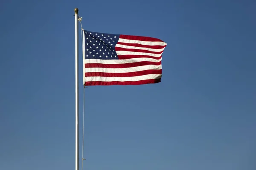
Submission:
<svg viewBox="0 0 256 170">
<path fill-rule="evenodd" d="M 167 42 L 162 82 L 86 88 L 84 170 L 256 169 L 255 0 L 2 0 L 0 170 L 75 169 L 74 8 Z"/>
</svg>

